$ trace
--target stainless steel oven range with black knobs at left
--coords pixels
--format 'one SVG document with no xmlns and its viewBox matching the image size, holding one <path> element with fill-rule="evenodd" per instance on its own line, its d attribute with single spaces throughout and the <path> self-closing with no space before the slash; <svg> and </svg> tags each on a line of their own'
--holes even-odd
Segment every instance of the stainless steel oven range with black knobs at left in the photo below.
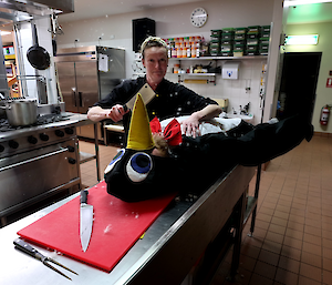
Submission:
<svg viewBox="0 0 332 285">
<path fill-rule="evenodd" d="M 6 216 L 61 191 L 79 191 L 79 157 L 74 125 L 42 122 L 13 130 L 0 122 L 1 223 L 6 224 Z"/>
</svg>

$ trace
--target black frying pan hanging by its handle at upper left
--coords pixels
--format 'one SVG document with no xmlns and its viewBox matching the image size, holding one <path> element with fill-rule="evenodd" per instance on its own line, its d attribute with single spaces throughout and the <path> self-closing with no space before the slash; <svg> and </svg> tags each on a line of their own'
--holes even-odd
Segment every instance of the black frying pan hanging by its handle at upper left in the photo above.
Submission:
<svg viewBox="0 0 332 285">
<path fill-rule="evenodd" d="M 32 26 L 33 45 L 27 51 L 30 64 L 38 70 L 45 70 L 50 67 L 49 52 L 38 44 L 35 24 Z"/>
</svg>

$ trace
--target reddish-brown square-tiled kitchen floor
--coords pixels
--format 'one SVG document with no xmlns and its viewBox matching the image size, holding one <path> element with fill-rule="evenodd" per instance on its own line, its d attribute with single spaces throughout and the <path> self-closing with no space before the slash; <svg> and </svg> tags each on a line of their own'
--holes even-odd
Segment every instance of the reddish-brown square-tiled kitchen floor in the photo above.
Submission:
<svg viewBox="0 0 332 285">
<path fill-rule="evenodd" d="M 94 145 L 80 142 L 80 150 L 93 153 Z M 116 147 L 100 146 L 101 172 L 116 152 Z M 81 164 L 81 173 L 84 185 L 97 183 L 95 161 Z M 212 285 L 332 284 L 331 138 L 314 136 L 270 162 L 261 175 L 252 237 L 247 236 L 249 226 L 243 231 L 236 282 L 226 278 L 229 254 Z"/>
</svg>

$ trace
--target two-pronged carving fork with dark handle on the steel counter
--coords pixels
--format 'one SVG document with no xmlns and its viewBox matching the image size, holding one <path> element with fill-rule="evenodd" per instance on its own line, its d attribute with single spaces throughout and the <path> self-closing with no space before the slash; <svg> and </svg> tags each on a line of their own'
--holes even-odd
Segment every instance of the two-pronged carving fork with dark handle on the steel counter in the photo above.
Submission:
<svg viewBox="0 0 332 285">
<path fill-rule="evenodd" d="M 39 251 L 37 251 L 35 248 L 33 248 L 30 244 L 25 243 L 23 240 L 21 238 L 17 238 L 13 241 L 13 244 L 15 245 L 17 250 L 22 251 L 23 253 L 27 253 L 29 255 L 31 255 L 32 257 L 34 257 L 35 259 L 41 261 L 44 265 L 46 265 L 49 268 L 55 271 L 56 273 L 61 274 L 62 276 L 71 279 L 69 276 L 66 276 L 65 274 L 63 274 L 61 271 L 56 269 L 55 267 L 53 267 L 52 265 L 49 264 L 49 262 L 52 262 L 54 264 L 56 264 L 58 266 L 61 266 L 62 268 L 70 271 L 71 273 L 74 273 L 76 275 L 79 275 L 77 273 L 75 273 L 74 271 L 68 268 L 66 266 L 62 265 L 61 263 L 54 261 L 51 257 L 46 257 L 44 255 L 42 255 Z"/>
</svg>

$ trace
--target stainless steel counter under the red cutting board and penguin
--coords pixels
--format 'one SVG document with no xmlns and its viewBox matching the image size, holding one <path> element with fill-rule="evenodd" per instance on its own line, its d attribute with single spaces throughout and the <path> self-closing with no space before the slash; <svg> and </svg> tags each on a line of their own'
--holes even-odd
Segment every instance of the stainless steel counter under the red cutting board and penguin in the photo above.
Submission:
<svg viewBox="0 0 332 285">
<path fill-rule="evenodd" d="M 34 247 L 77 272 L 79 276 L 70 275 L 71 284 L 180 284 L 221 231 L 236 205 L 240 204 L 237 212 L 241 213 L 246 189 L 253 174 L 255 167 L 236 166 L 227 175 L 220 174 L 220 179 L 197 201 L 173 202 L 147 230 L 144 238 L 137 241 L 111 273 L 39 246 Z M 77 195 L 77 193 L 73 194 L 0 230 L 1 284 L 69 284 L 66 278 L 41 262 L 14 250 L 12 242 L 17 238 L 19 230 Z M 243 215 L 238 216 L 241 224 Z M 235 247 L 237 254 L 239 254 L 241 230 L 240 226 L 237 231 L 238 241 Z M 237 267 L 237 264 L 235 266 Z"/>
</svg>

